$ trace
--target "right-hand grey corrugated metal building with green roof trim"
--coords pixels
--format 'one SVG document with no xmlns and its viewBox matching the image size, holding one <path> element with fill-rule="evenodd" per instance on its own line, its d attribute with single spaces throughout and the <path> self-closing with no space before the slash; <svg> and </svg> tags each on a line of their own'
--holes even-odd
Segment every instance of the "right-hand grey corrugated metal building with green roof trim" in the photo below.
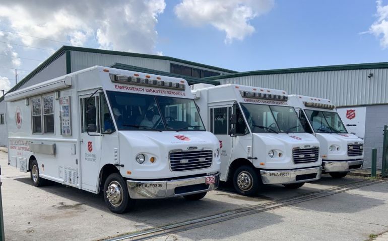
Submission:
<svg viewBox="0 0 388 241">
<path fill-rule="evenodd" d="M 364 134 L 359 136 L 365 141 L 364 167 L 370 168 L 371 149 L 377 148 L 377 168 L 381 168 L 382 133 L 384 125 L 388 125 L 388 63 L 249 71 L 207 79 L 327 98 L 339 107 L 340 115 L 346 109 L 356 110 L 359 120 L 347 125 L 347 129 L 362 127 Z"/>
</svg>

